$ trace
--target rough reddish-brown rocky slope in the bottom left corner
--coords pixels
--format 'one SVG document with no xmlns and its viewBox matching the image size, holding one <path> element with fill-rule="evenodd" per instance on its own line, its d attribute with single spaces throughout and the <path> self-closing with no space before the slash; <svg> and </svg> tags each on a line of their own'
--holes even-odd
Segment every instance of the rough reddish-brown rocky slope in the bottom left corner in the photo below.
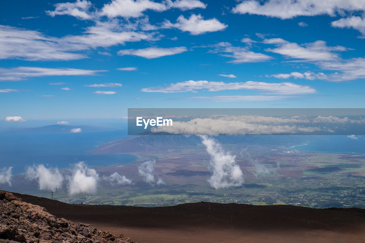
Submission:
<svg viewBox="0 0 365 243">
<path fill-rule="evenodd" d="M 0 191 L 0 242 L 133 243 L 87 224 L 58 219 L 43 207 Z"/>
</svg>

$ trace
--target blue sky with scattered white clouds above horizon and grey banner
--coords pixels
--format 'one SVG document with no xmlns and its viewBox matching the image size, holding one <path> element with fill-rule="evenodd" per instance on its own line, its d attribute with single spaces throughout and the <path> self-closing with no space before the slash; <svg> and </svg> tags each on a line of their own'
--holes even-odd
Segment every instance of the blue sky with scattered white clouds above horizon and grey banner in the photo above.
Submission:
<svg viewBox="0 0 365 243">
<path fill-rule="evenodd" d="M 0 11 L 4 121 L 364 108 L 361 1 L 7 1 Z"/>
</svg>

